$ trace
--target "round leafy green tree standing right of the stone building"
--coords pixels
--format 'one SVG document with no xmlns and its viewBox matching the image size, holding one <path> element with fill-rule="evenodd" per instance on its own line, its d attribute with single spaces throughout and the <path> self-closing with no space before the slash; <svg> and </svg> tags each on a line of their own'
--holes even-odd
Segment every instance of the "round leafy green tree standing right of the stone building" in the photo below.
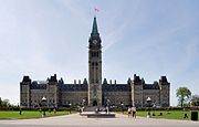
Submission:
<svg viewBox="0 0 199 127">
<path fill-rule="evenodd" d="M 179 87 L 176 92 L 177 92 L 176 96 L 178 97 L 179 105 L 184 107 L 186 102 L 188 102 L 188 99 L 191 97 L 191 92 L 187 87 Z"/>
</svg>

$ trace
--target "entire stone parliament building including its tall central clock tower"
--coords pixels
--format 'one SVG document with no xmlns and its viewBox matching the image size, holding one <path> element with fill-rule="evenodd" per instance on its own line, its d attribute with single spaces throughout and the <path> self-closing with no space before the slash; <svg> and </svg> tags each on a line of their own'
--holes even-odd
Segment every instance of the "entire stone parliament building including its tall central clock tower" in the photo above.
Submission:
<svg viewBox="0 0 199 127">
<path fill-rule="evenodd" d="M 102 40 L 94 18 L 88 39 L 88 80 L 75 80 L 73 84 L 67 84 L 63 78 L 57 80 L 56 74 L 45 81 L 32 81 L 30 76 L 23 76 L 20 83 L 20 106 L 35 107 L 43 97 L 48 106 L 53 107 L 104 106 L 107 100 L 114 106 L 146 107 L 147 98 L 150 98 L 153 105 L 168 107 L 170 83 L 166 76 L 160 76 L 159 81 L 147 84 L 136 74 L 124 84 L 102 80 Z"/>
</svg>

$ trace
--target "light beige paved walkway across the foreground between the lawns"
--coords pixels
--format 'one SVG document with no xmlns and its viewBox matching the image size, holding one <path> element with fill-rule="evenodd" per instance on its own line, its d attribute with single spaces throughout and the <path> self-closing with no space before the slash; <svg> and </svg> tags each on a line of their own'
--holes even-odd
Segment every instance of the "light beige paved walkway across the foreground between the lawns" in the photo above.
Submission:
<svg viewBox="0 0 199 127">
<path fill-rule="evenodd" d="M 0 120 L 0 127 L 199 127 L 199 121 L 168 120 L 137 117 L 128 118 L 116 114 L 116 118 L 87 118 L 78 114 L 39 119 Z"/>
</svg>

